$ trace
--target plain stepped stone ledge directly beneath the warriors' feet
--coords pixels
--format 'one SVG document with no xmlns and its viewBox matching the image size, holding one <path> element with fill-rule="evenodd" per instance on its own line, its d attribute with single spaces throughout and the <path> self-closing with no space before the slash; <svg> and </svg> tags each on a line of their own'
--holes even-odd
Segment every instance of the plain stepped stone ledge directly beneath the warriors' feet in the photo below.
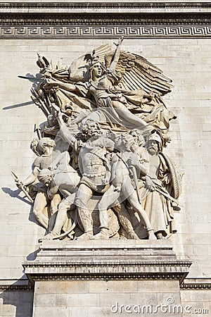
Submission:
<svg viewBox="0 0 211 317">
<path fill-rule="evenodd" d="M 176 260 L 167 240 L 48 241 L 39 247 L 36 261 L 168 261 Z"/>
</svg>

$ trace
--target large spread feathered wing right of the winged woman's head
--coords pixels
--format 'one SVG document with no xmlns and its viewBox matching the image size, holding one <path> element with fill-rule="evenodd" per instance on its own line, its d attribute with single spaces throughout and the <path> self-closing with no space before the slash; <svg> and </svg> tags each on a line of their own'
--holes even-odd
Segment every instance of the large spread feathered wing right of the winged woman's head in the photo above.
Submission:
<svg viewBox="0 0 211 317">
<path fill-rule="evenodd" d="M 116 72 L 122 77 L 122 89 L 143 89 L 146 93 L 167 94 L 171 92 L 172 80 L 162 74 L 162 70 L 142 56 L 121 51 Z"/>
</svg>

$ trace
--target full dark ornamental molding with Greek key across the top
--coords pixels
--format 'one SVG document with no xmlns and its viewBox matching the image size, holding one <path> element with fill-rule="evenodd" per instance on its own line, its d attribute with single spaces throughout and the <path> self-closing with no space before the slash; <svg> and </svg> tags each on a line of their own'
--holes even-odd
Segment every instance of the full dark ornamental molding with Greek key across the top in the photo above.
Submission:
<svg viewBox="0 0 211 317">
<path fill-rule="evenodd" d="M 210 37 L 210 3 L 0 3 L 8 38 Z M 152 13 L 153 9 L 153 13 Z"/>
</svg>

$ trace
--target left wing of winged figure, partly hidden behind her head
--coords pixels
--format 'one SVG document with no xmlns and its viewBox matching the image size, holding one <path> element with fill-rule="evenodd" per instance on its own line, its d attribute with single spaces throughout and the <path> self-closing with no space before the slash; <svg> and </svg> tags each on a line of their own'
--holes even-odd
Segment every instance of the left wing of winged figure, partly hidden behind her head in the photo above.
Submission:
<svg viewBox="0 0 211 317">
<path fill-rule="evenodd" d="M 98 56 L 98 61 L 101 63 L 104 62 L 104 56 L 110 51 L 110 44 L 103 44 L 94 50 L 96 56 Z M 73 82 L 87 82 L 89 80 L 89 63 L 85 56 L 91 56 L 91 51 L 84 53 L 79 58 L 72 61 L 72 64 L 69 68 L 69 79 Z"/>
</svg>

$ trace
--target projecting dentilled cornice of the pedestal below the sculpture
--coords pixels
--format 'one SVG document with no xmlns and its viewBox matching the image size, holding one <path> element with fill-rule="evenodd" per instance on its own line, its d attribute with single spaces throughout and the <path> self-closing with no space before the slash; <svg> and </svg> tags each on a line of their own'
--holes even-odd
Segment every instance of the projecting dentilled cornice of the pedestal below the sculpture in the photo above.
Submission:
<svg viewBox="0 0 211 317">
<path fill-rule="evenodd" d="M 27 261 L 30 282 L 36 280 L 179 280 L 188 274 L 190 261 Z"/>
</svg>

